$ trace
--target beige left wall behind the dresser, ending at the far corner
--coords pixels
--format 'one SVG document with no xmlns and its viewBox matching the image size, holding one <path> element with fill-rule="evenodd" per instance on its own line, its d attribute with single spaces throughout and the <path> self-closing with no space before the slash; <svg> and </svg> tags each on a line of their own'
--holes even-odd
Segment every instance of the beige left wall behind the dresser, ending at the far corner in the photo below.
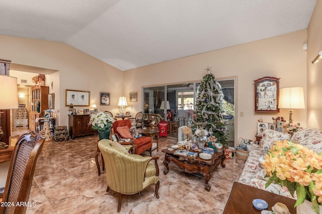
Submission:
<svg viewBox="0 0 322 214">
<path fill-rule="evenodd" d="M 56 125 L 68 125 L 65 89 L 90 91 L 90 104 L 95 103 L 100 111 L 118 112 L 117 99 L 123 96 L 120 70 L 64 43 L 0 35 L 0 47 L 0 58 L 12 63 L 58 71 L 46 76 L 47 86 L 53 82 L 49 93 L 55 93 Z M 100 106 L 100 92 L 111 93 L 110 106 Z"/>
</svg>

